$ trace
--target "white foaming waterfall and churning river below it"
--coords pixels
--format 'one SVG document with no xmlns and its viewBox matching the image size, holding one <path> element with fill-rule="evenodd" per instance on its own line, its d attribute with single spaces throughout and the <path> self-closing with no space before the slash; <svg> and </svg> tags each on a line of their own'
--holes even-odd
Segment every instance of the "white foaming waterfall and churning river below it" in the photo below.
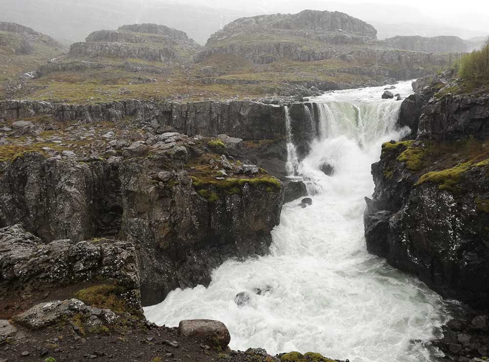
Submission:
<svg viewBox="0 0 489 362">
<path fill-rule="evenodd" d="M 400 102 L 381 100 L 382 89 L 336 91 L 313 100 L 321 103 L 318 140 L 302 162 L 289 159 L 295 177 L 309 181 L 313 203 L 306 209 L 298 201 L 284 205 L 270 255 L 225 262 L 208 288 L 175 290 L 145 308 L 147 318 L 166 325 L 221 320 L 233 349 L 314 351 L 358 362 L 432 361 L 429 344 L 416 340 L 440 334 L 444 302 L 365 246 L 363 198 L 374 190 L 370 166 L 382 142 L 400 137 Z M 410 82 L 396 92 L 407 96 Z M 319 170 L 324 159 L 334 165 L 333 176 Z M 251 296 L 242 307 L 234 302 L 240 292 Z"/>
</svg>

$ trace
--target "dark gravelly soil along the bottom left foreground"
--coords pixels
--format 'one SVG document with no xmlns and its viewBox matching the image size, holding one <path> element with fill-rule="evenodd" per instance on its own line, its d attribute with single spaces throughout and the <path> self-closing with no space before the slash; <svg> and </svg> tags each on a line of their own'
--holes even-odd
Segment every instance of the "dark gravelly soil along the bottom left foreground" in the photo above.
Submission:
<svg viewBox="0 0 489 362">
<path fill-rule="evenodd" d="M 27 331 L 26 331 L 27 332 Z M 27 333 L 26 333 L 27 334 Z M 165 341 L 176 341 L 173 347 Z M 22 352 L 29 352 L 22 356 Z M 25 354 L 25 353 L 24 353 Z M 0 361 L 273 361 L 252 352 L 219 350 L 204 341 L 181 338 L 177 328 L 137 326 L 125 334 L 108 333 L 83 336 L 66 326 L 29 331 L 29 336 L 0 346 Z"/>
</svg>

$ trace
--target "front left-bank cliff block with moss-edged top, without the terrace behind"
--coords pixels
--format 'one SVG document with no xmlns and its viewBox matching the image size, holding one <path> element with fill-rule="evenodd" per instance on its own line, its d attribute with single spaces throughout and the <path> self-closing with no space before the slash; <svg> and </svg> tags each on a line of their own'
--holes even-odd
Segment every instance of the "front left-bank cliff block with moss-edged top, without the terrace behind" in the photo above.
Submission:
<svg viewBox="0 0 489 362">
<path fill-rule="evenodd" d="M 211 270 L 230 257 L 267 253 L 282 186 L 263 169 L 238 164 L 221 140 L 167 132 L 101 149 L 121 158 L 81 161 L 78 150 L 47 148 L 0 159 L 0 226 L 21 223 L 46 243 L 117 234 L 136 247 L 144 305 L 178 287 L 208 284 Z"/>
</svg>

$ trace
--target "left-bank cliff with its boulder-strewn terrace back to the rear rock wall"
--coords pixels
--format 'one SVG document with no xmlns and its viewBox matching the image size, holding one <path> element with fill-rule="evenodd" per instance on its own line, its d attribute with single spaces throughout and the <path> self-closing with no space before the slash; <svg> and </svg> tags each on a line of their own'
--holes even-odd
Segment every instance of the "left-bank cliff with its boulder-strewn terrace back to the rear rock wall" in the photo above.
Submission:
<svg viewBox="0 0 489 362">
<path fill-rule="evenodd" d="M 210 271 L 229 257 L 267 253 L 270 231 L 280 220 L 280 181 L 249 164 L 242 139 L 191 138 L 175 132 L 167 121 L 181 121 L 174 126 L 193 131 L 233 126 L 228 130 L 250 137 L 273 136 L 266 132 L 280 134 L 281 129 L 275 129 L 272 118 L 262 130 L 253 122 L 263 122 L 264 114 L 274 112 L 278 118 L 280 106 L 241 105 L 236 114 L 244 123 L 236 128 L 224 118 L 218 123 L 219 117 L 213 125 L 210 104 L 202 118 L 199 111 L 172 116 L 170 107 L 161 124 L 152 117 L 97 118 L 127 114 L 95 108 L 89 115 L 85 109 L 79 114 L 96 122 L 88 125 L 70 117 L 57 123 L 49 115 L 56 108 L 52 104 L 13 104 L 17 108 L 3 113 L 4 119 L 10 112 L 15 119 L 30 120 L 4 121 L 2 128 L 0 227 L 21 224 L 44 243 L 100 238 L 132 243 L 143 305 L 161 301 L 178 287 L 208 284 Z M 222 106 L 227 117 L 234 114 L 229 104 Z M 140 116 L 161 112 L 148 104 L 140 110 L 156 111 Z M 187 118 L 179 118 L 181 114 Z M 104 120 L 114 123 L 90 126 Z M 27 141 L 17 139 L 19 134 Z M 32 142 L 32 136 L 38 140 Z"/>
</svg>

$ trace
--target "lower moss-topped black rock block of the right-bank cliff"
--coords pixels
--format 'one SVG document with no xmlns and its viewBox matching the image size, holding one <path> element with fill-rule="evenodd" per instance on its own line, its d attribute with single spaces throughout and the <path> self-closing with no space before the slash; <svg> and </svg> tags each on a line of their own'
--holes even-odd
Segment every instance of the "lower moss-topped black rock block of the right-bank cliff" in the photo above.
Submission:
<svg viewBox="0 0 489 362">
<path fill-rule="evenodd" d="M 430 149 L 442 146 L 389 145 L 372 166 L 376 190 L 365 213 L 367 249 L 445 297 L 485 307 L 488 167 L 475 160 L 462 170 L 436 163 L 410 170 L 417 165 L 411 157 L 424 157 L 428 165 Z"/>
</svg>

